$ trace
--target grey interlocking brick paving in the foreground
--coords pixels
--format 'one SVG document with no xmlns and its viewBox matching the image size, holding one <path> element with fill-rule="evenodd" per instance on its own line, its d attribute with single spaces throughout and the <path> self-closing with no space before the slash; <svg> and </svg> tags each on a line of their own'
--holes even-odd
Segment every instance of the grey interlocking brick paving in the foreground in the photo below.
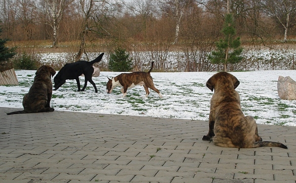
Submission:
<svg viewBox="0 0 296 183">
<path fill-rule="evenodd" d="M 202 141 L 208 122 L 0 107 L 0 183 L 296 183 L 296 127 L 258 125 L 281 148 Z"/>
</svg>

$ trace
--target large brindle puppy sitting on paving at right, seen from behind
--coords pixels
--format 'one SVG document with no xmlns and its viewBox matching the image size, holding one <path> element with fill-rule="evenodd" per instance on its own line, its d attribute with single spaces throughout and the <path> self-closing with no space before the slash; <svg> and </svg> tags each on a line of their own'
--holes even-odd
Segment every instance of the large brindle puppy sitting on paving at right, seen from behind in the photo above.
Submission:
<svg viewBox="0 0 296 183">
<path fill-rule="evenodd" d="M 202 140 L 213 140 L 216 146 L 228 148 L 280 147 L 282 143 L 262 141 L 257 123 L 241 110 L 240 97 L 236 89 L 239 81 L 227 72 L 214 74 L 207 87 L 214 94 L 211 99 L 209 132 Z"/>
</svg>

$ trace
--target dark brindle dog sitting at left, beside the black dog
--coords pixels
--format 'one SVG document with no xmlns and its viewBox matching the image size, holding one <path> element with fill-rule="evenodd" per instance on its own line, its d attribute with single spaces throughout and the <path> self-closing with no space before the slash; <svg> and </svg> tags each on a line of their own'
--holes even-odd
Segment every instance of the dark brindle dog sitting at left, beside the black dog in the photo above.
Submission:
<svg viewBox="0 0 296 183">
<path fill-rule="evenodd" d="M 55 73 L 56 71 L 51 66 L 42 65 L 36 71 L 32 87 L 23 98 L 24 110 L 7 113 L 7 115 L 54 111 L 54 108 L 50 107 L 50 100 L 52 95 L 51 77 Z"/>
</svg>

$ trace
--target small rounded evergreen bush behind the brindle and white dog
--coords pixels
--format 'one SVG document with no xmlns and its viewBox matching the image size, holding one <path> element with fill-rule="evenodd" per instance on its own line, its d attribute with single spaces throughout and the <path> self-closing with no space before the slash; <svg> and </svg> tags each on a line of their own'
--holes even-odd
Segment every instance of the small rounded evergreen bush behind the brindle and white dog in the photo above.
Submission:
<svg viewBox="0 0 296 183">
<path fill-rule="evenodd" d="M 129 54 L 123 48 L 117 48 L 110 55 L 109 69 L 114 72 L 132 70 L 132 59 L 129 59 Z"/>
</svg>

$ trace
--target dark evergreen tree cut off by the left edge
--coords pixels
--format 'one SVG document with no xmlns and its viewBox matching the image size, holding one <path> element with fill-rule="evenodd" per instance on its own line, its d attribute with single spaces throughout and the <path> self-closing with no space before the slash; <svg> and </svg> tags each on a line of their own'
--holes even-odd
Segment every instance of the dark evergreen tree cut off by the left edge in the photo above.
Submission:
<svg viewBox="0 0 296 183">
<path fill-rule="evenodd" d="M 0 28 L 0 35 L 2 32 L 2 29 Z M 10 67 L 8 65 L 11 65 L 11 64 L 7 64 L 6 61 L 8 61 L 10 58 L 12 58 L 16 52 L 16 47 L 13 47 L 13 48 L 8 48 L 8 47 L 5 47 L 5 44 L 6 42 L 8 41 L 8 39 L 0 39 L 0 70 L 1 71 L 5 71 L 5 70 L 8 70 L 8 69 L 11 69 L 11 68 L 7 68 L 7 67 Z"/>
</svg>

